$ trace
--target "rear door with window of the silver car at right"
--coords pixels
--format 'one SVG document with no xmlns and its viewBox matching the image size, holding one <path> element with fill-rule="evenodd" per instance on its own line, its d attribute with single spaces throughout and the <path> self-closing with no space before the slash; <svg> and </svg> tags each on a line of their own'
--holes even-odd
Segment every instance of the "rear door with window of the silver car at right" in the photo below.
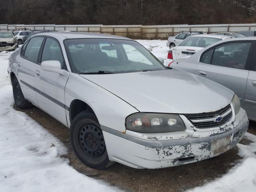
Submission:
<svg viewBox="0 0 256 192">
<path fill-rule="evenodd" d="M 196 74 L 234 91 L 244 107 L 246 82 L 253 41 L 226 42 L 206 50 L 200 57 Z"/>
</svg>

